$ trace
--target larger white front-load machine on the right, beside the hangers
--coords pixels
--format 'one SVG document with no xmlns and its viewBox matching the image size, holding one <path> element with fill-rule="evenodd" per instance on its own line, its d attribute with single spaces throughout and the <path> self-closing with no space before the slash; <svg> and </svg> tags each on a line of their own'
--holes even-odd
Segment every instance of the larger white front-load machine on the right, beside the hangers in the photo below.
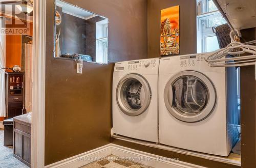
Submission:
<svg viewBox="0 0 256 168">
<path fill-rule="evenodd" d="M 209 67 L 205 55 L 160 60 L 159 141 L 227 156 L 239 137 L 236 69 Z"/>
</svg>

